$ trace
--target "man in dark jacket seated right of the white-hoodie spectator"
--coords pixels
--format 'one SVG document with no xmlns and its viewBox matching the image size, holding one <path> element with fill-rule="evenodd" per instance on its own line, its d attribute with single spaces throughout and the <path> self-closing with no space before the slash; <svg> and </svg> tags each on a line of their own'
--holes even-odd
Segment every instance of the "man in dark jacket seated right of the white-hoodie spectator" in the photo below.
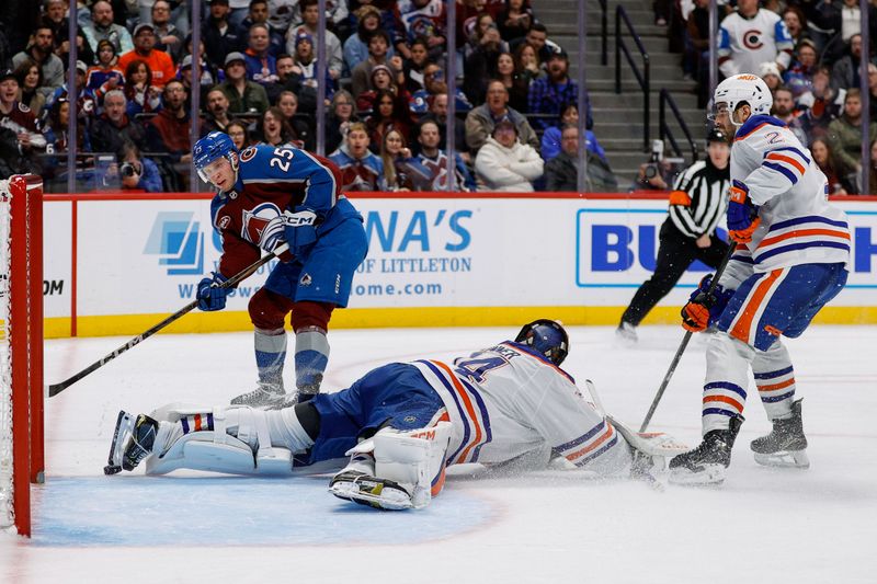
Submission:
<svg viewBox="0 0 877 584">
<path fill-rule="evenodd" d="M 579 191 L 579 128 L 565 126 L 561 130 L 561 152 L 545 164 L 546 191 Z M 585 191 L 594 193 L 614 193 L 618 190 L 618 181 L 610 165 L 600 157 L 588 152 L 588 180 Z"/>
</svg>

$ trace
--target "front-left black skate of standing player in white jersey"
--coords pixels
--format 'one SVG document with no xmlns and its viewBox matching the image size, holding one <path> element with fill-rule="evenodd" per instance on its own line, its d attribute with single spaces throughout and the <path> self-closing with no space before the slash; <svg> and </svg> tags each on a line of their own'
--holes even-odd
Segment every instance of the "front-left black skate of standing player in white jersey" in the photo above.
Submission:
<svg viewBox="0 0 877 584">
<path fill-rule="evenodd" d="M 731 448 L 742 424 L 742 415 L 733 416 L 727 430 L 707 432 L 701 446 L 673 457 L 670 461 L 670 482 L 721 484 L 725 481 L 725 470 L 731 463 Z"/>
</svg>

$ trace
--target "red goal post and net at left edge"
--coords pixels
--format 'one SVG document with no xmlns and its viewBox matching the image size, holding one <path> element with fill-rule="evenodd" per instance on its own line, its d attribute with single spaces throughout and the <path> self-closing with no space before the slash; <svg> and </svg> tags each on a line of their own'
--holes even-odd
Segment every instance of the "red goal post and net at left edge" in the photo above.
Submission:
<svg viewBox="0 0 877 584">
<path fill-rule="evenodd" d="M 31 535 L 43 482 L 43 181 L 0 181 L 0 530 Z"/>
</svg>

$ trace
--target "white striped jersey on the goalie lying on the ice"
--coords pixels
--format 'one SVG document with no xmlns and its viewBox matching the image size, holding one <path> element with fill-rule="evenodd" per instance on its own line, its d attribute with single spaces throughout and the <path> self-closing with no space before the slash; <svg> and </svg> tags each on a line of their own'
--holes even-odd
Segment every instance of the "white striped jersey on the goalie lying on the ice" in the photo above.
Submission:
<svg viewBox="0 0 877 584">
<path fill-rule="evenodd" d="M 448 465 L 504 462 L 550 447 L 601 476 L 626 473 L 624 436 L 562 369 L 513 342 L 457 358 L 418 360 L 445 403 L 453 432 Z"/>
</svg>

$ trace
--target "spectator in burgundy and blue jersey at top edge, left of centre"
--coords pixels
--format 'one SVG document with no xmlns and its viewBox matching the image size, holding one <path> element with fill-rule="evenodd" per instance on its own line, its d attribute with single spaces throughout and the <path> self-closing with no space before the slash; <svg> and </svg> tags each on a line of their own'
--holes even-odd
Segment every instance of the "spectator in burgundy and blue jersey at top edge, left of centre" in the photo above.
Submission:
<svg viewBox="0 0 877 584">
<path fill-rule="evenodd" d="M 411 58 L 410 45 L 418 37 L 426 39 L 431 57 L 444 53 L 447 15 L 442 0 L 399 0 L 392 9 L 392 45 L 403 58 Z"/>
</svg>

